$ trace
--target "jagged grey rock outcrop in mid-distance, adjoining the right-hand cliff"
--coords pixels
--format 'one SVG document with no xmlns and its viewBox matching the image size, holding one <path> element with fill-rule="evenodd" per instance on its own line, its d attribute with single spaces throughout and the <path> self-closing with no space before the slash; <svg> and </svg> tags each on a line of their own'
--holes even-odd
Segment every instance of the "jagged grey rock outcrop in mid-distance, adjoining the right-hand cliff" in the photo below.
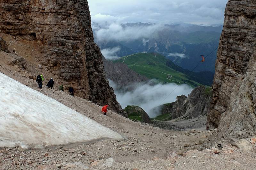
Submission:
<svg viewBox="0 0 256 170">
<path fill-rule="evenodd" d="M 181 117 L 181 119 L 192 119 L 210 112 L 210 102 L 212 100 L 211 88 L 198 86 L 189 95 L 177 96 L 173 103 L 164 104 L 161 108 L 161 114 L 170 114 L 172 119 Z"/>
</svg>

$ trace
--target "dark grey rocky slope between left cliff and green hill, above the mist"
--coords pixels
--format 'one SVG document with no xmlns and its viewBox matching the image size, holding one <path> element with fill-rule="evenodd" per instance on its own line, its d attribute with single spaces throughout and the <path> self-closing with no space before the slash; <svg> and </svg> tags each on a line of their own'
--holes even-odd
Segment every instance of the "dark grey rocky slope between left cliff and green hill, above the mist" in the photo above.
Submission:
<svg viewBox="0 0 256 170">
<path fill-rule="evenodd" d="M 103 62 L 107 78 L 116 83 L 118 90 L 131 91 L 133 90 L 132 84 L 148 81 L 148 78 L 131 70 L 126 64 L 113 63 L 105 58 Z"/>
</svg>

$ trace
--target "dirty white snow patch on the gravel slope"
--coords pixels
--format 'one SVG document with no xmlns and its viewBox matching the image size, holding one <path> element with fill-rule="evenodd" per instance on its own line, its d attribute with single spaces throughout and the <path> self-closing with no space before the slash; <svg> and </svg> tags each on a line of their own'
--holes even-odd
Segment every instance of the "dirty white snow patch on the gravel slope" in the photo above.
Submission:
<svg viewBox="0 0 256 170">
<path fill-rule="evenodd" d="M 48 146 L 123 137 L 0 73 L 0 148 Z"/>
</svg>

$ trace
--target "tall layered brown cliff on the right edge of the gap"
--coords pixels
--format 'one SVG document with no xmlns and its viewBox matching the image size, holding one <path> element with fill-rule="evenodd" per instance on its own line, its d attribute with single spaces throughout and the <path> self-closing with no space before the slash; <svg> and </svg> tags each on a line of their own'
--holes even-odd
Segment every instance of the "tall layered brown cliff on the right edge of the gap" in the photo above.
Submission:
<svg viewBox="0 0 256 170">
<path fill-rule="evenodd" d="M 229 0 L 207 128 L 218 137 L 256 135 L 256 1 Z"/>
</svg>

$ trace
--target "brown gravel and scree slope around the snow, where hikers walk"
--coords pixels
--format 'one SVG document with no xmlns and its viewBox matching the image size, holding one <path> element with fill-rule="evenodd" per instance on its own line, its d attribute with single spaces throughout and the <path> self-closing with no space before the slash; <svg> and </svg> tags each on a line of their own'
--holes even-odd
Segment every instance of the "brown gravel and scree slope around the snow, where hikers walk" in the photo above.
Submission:
<svg viewBox="0 0 256 170">
<path fill-rule="evenodd" d="M 12 37 L 7 37 L 11 39 Z M 14 50 L 25 58 L 27 70 L 21 70 L 18 65 L 10 64 L 13 58 L 0 52 L 0 72 L 14 78 L 48 97 L 51 97 L 71 109 L 106 126 L 125 137 L 125 140 L 101 140 L 94 143 L 82 143 L 66 146 L 45 148 L 45 150 L 24 151 L 22 148 L 0 149 L 0 170 L 6 169 L 255 169 L 256 147 L 250 151 L 241 151 L 223 141 L 223 151 L 218 148 L 202 152 L 190 150 L 199 149 L 200 143 L 207 142 L 215 130 L 164 130 L 158 127 L 133 122 L 121 115 L 108 111 L 107 116 L 101 114 L 101 107 L 78 97 L 72 97 L 66 92 L 52 91 L 45 88 L 48 79 L 55 80 L 55 87 L 61 82 L 47 68 L 38 68 L 36 56 L 40 53 L 35 44 L 26 42 L 32 55 L 26 56 L 22 50 L 25 43 L 12 42 L 10 51 Z M 33 51 L 32 51 L 33 50 Z M 38 53 L 38 54 L 36 54 Z M 11 54 L 16 55 L 14 52 Z M 30 54 L 30 53 L 29 53 Z M 33 57 L 32 57 L 33 56 Z M 45 82 L 43 89 L 38 89 L 32 78 L 43 73 Z M 46 82 L 47 81 L 47 82 Z M 23 92 L 21 92 L 23 93 Z M 76 95 L 76 93 L 75 93 Z M 172 123 L 172 122 L 170 122 Z M 215 154 L 215 151 L 220 154 Z M 232 150 L 232 151 L 231 151 Z M 190 151 L 190 152 L 188 152 Z M 193 157 L 194 156 L 194 157 Z M 113 158 L 116 162 L 111 162 Z M 106 161 L 108 159 L 108 161 Z M 105 161 L 105 162 L 104 162 Z M 68 164 L 80 162 L 79 164 Z M 108 164 L 107 164 L 108 163 Z M 107 167 L 108 165 L 108 167 Z M 69 167 L 69 168 L 68 168 Z"/>
</svg>

